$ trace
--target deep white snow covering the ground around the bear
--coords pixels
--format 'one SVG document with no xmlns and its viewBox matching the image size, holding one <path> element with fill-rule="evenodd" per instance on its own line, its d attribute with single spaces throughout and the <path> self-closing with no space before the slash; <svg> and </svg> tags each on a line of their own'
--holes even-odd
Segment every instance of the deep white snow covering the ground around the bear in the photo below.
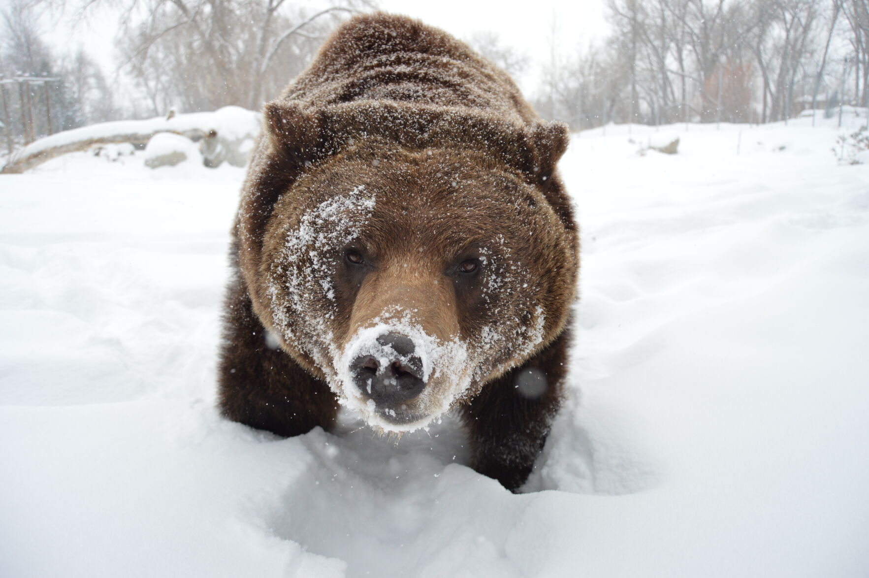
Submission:
<svg viewBox="0 0 869 578">
<path fill-rule="evenodd" d="M 869 575 L 869 165 L 836 134 L 574 137 L 572 398 L 523 495 L 448 422 L 216 415 L 241 169 L 0 176 L 0 575 Z"/>
</svg>

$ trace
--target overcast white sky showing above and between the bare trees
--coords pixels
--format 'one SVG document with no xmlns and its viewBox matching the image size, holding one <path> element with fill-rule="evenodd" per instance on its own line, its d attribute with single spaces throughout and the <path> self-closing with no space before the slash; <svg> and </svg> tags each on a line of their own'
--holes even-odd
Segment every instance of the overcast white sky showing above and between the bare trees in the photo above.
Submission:
<svg viewBox="0 0 869 578">
<path fill-rule="evenodd" d="M 10 0 L 0 0 L 0 8 L 5 9 L 9 3 Z M 107 8 L 112 3 L 104 0 L 102 4 L 91 6 L 89 17 L 84 21 L 74 19 L 71 10 L 46 14 L 43 17 L 46 40 L 58 51 L 67 47 L 75 50 L 82 44 L 97 62 L 113 72 L 117 65 L 118 16 L 116 10 Z M 301 3 L 308 3 L 312 8 L 324 5 L 316 1 Z M 380 6 L 382 10 L 420 18 L 462 39 L 468 39 L 474 32 L 494 31 L 502 43 L 531 57 L 527 77 L 519 79 L 522 88 L 529 93 L 534 91 L 536 73 L 549 60 L 551 39 L 567 52 L 587 45 L 607 30 L 603 0 L 380 0 Z"/>
</svg>

